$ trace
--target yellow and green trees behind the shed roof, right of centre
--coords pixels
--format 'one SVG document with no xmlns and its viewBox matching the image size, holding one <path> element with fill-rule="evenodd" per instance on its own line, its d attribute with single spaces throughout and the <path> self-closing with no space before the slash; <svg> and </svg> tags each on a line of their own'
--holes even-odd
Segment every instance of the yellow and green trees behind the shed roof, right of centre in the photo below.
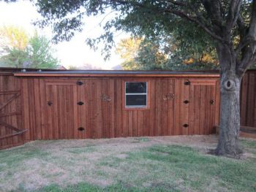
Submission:
<svg viewBox="0 0 256 192">
<path fill-rule="evenodd" d="M 200 45 L 197 45 L 198 49 L 192 49 L 189 43 L 174 37 L 165 38 L 165 42 L 161 39 L 128 38 L 118 43 L 116 53 L 124 59 L 123 69 L 128 70 L 219 68 L 214 50 L 205 50 Z"/>
</svg>

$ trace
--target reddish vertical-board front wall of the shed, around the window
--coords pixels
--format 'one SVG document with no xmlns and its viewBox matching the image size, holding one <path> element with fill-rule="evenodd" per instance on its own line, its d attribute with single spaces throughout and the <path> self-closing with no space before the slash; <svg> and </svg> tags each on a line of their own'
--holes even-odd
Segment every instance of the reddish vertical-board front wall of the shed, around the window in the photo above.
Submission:
<svg viewBox="0 0 256 192">
<path fill-rule="evenodd" d="M 187 78 L 177 77 L 23 77 L 21 81 L 27 141 L 212 134 L 219 121 L 215 77 L 189 78 L 190 85 L 184 85 Z M 124 109 L 124 82 L 129 81 L 148 82 L 146 109 Z"/>
</svg>

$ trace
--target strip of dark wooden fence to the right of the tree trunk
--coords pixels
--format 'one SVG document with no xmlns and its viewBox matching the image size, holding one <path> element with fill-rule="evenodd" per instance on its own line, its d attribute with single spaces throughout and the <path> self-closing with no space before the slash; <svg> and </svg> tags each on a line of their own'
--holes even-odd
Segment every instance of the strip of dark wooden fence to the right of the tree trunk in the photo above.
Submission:
<svg viewBox="0 0 256 192">
<path fill-rule="evenodd" d="M 256 70 L 247 71 L 241 85 L 241 126 L 256 127 Z"/>
</svg>

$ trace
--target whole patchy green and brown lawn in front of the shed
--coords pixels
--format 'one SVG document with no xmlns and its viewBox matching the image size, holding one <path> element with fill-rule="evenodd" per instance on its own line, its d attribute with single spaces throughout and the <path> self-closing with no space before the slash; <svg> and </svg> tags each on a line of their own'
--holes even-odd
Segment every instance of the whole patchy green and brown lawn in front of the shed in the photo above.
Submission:
<svg viewBox="0 0 256 192">
<path fill-rule="evenodd" d="M 37 141 L 0 151 L 0 191 L 256 191 L 256 139 L 240 160 L 215 136 Z"/>
</svg>

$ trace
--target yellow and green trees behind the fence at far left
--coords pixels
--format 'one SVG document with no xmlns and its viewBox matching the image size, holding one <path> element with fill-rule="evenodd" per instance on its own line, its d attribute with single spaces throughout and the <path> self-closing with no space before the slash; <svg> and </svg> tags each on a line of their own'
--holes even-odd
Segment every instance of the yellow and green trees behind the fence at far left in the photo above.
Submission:
<svg viewBox="0 0 256 192">
<path fill-rule="evenodd" d="M 1 28 L 0 66 L 56 69 L 58 59 L 53 56 L 50 40 L 37 33 L 29 37 L 26 31 L 13 26 Z"/>
</svg>

